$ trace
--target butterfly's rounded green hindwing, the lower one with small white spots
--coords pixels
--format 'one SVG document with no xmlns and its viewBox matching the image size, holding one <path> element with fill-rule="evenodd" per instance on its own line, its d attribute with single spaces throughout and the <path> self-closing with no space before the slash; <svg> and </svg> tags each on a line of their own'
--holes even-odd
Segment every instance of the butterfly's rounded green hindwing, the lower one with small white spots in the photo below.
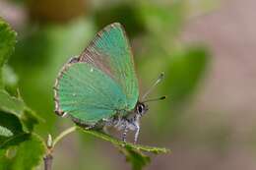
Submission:
<svg viewBox="0 0 256 170">
<path fill-rule="evenodd" d="M 86 124 L 127 109 L 120 86 L 88 63 L 68 67 L 59 80 L 58 97 L 62 111 Z"/>
</svg>

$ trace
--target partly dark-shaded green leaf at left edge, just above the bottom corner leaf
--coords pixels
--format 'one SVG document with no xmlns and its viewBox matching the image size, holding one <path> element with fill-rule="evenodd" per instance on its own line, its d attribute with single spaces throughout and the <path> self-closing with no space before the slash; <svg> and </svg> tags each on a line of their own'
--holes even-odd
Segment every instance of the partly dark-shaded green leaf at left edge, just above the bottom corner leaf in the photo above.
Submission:
<svg viewBox="0 0 256 170">
<path fill-rule="evenodd" d="M 0 149 L 6 149 L 28 141 L 33 125 L 38 123 L 39 119 L 21 99 L 11 97 L 3 90 L 0 91 L 2 91 L 0 92 L 0 126 L 7 128 L 13 134 L 10 137 L 0 136 Z"/>
</svg>

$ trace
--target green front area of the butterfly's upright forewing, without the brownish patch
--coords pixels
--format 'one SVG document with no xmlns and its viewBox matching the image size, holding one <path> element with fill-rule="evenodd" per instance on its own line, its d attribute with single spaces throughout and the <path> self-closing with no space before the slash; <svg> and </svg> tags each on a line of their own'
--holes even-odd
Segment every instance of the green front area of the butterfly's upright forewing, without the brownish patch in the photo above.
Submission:
<svg viewBox="0 0 256 170">
<path fill-rule="evenodd" d="M 134 70 L 132 51 L 124 30 L 119 26 L 110 28 L 102 33 L 96 47 L 102 53 L 110 56 L 111 68 L 118 82 L 124 89 L 128 105 L 132 109 L 139 96 L 139 87 Z"/>
</svg>

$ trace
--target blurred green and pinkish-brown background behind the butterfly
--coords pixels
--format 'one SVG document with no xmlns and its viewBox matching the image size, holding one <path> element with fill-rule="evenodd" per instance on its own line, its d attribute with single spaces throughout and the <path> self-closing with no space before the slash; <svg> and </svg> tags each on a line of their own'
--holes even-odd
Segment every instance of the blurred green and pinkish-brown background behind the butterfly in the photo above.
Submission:
<svg viewBox="0 0 256 170">
<path fill-rule="evenodd" d="M 134 52 L 141 94 L 165 73 L 142 119 L 140 143 L 166 146 L 146 169 L 256 168 L 254 0 L 0 0 L 0 16 L 18 31 L 4 69 L 45 122 L 43 137 L 72 125 L 54 113 L 61 66 L 104 26 L 120 22 Z M 116 135 L 116 134 L 115 134 Z M 38 167 L 41 169 L 42 167 Z M 54 151 L 53 169 L 129 169 L 107 142 L 72 134 Z"/>
</svg>

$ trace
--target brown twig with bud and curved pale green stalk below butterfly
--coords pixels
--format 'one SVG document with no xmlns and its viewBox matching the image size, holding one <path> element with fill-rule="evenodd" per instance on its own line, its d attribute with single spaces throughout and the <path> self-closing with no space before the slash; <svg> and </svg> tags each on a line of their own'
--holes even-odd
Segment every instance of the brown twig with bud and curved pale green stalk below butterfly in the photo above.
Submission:
<svg viewBox="0 0 256 170">
<path fill-rule="evenodd" d="M 69 135 L 70 133 L 76 131 L 76 129 L 77 129 L 76 126 L 68 128 L 67 130 L 60 133 L 53 142 L 52 142 L 51 136 L 50 135 L 48 136 L 48 139 L 46 142 L 47 153 L 43 157 L 44 170 L 51 170 L 52 160 L 53 160 L 52 152 L 53 152 L 53 148 L 57 144 L 57 142 L 61 141 L 65 136 Z"/>
</svg>

